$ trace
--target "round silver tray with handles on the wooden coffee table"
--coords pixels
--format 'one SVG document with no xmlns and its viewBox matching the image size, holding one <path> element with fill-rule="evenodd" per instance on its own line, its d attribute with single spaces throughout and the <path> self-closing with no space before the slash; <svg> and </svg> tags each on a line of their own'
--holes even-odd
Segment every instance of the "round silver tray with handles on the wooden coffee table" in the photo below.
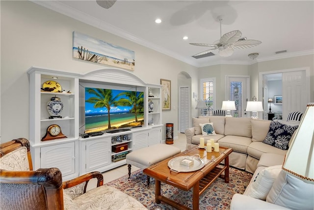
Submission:
<svg viewBox="0 0 314 210">
<path fill-rule="evenodd" d="M 193 160 L 194 164 L 192 166 L 185 166 L 180 164 L 183 159 Z M 171 171 L 179 173 L 179 172 L 191 172 L 196 171 L 205 166 L 205 162 L 199 156 L 179 156 L 172 158 L 168 162 L 168 167 Z"/>
</svg>

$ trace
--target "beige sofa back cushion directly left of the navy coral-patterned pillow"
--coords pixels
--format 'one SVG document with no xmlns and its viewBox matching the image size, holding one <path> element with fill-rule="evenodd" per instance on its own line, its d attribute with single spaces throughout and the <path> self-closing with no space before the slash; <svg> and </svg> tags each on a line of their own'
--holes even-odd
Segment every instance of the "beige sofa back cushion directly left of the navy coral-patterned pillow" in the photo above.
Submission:
<svg viewBox="0 0 314 210">
<path fill-rule="evenodd" d="M 252 142 L 264 141 L 269 130 L 270 120 L 251 120 Z"/>
</svg>

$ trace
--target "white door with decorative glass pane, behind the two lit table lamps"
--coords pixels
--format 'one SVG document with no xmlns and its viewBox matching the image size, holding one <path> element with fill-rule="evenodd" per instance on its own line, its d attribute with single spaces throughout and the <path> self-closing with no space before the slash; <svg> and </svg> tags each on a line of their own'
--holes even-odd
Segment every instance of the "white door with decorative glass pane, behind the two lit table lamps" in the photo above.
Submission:
<svg viewBox="0 0 314 210">
<path fill-rule="evenodd" d="M 226 100 L 235 101 L 235 111 L 231 112 L 234 117 L 248 117 L 246 113 L 246 102 L 250 98 L 250 77 L 249 76 L 227 76 Z"/>
</svg>

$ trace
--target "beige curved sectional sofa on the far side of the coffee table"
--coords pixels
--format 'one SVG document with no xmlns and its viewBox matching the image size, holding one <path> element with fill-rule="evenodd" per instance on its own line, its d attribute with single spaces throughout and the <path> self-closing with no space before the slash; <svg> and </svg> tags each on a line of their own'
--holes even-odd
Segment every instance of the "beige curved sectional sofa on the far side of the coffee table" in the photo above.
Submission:
<svg viewBox="0 0 314 210">
<path fill-rule="evenodd" d="M 254 173 L 263 153 L 285 155 L 287 150 L 281 150 L 262 141 L 265 139 L 270 120 L 253 120 L 252 118 L 225 118 L 206 116 L 193 118 L 193 127 L 185 130 L 186 149 L 200 143 L 203 137 L 205 142 L 214 139 L 219 146 L 232 148 L 229 155 L 229 164 L 239 169 Z M 215 136 L 203 136 L 200 124 L 212 122 Z"/>
</svg>

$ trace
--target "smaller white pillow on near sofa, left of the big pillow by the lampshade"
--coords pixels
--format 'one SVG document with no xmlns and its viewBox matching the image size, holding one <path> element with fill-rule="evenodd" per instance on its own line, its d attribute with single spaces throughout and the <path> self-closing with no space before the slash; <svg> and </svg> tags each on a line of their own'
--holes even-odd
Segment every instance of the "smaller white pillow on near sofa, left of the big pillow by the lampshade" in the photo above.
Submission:
<svg viewBox="0 0 314 210">
<path fill-rule="evenodd" d="M 245 192 L 245 195 L 266 200 L 274 181 L 281 171 L 282 165 L 271 166 L 260 171 Z"/>
</svg>

